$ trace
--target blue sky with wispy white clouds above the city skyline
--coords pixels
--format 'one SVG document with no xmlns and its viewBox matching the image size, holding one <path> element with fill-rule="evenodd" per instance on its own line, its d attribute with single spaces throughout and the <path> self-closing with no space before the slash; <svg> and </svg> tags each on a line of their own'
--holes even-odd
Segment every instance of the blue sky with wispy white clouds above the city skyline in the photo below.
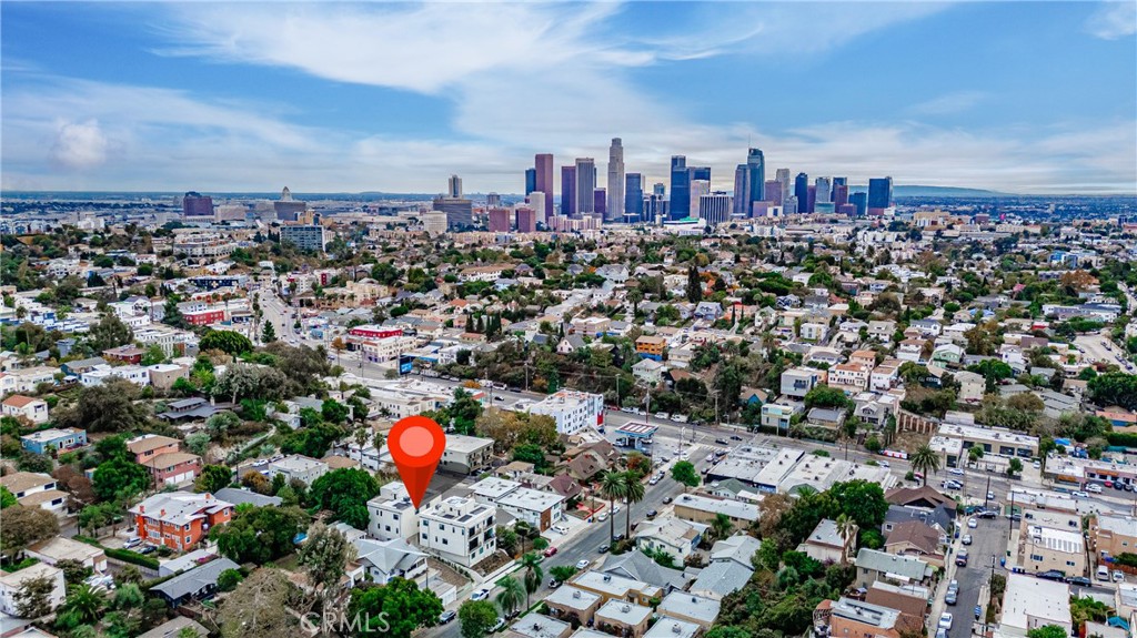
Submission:
<svg viewBox="0 0 1137 638">
<path fill-rule="evenodd" d="M 1137 2 L 0 3 L 19 190 L 518 192 L 532 156 L 1137 193 Z M 557 171 L 559 173 L 559 171 Z M 604 178 L 600 179 L 601 184 Z"/>
</svg>

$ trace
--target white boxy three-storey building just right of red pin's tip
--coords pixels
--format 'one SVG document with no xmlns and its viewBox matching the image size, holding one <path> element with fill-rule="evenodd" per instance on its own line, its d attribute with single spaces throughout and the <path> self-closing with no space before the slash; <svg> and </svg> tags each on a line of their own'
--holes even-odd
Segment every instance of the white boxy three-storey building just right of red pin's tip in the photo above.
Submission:
<svg viewBox="0 0 1137 638">
<path fill-rule="evenodd" d="M 418 546 L 460 565 L 472 566 L 497 551 L 497 507 L 451 496 L 418 513 Z"/>
</svg>

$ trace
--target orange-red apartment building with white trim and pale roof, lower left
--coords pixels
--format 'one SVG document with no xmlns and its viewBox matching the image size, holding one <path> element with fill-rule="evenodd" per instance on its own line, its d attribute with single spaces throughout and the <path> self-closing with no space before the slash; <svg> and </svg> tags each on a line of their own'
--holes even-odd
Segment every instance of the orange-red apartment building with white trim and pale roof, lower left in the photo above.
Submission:
<svg viewBox="0 0 1137 638">
<path fill-rule="evenodd" d="M 232 503 L 211 494 L 159 493 L 130 509 L 138 536 L 150 545 L 189 551 L 217 524 L 233 518 Z"/>
</svg>

